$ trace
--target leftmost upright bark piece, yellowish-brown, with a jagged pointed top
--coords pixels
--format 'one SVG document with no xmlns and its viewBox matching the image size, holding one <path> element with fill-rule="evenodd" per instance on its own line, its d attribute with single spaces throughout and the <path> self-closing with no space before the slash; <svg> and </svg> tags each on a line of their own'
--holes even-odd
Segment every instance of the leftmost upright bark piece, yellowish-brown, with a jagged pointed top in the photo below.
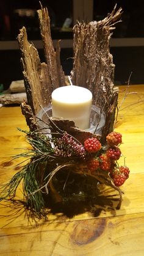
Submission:
<svg viewBox="0 0 144 256">
<path fill-rule="evenodd" d="M 41 106 L 51 102 L 51 87 L 48 79 L 48 66 L 40 62 L 38 51 L 27 41 L 26 28 L 23 27 L 18 35 L 23 63 L 24 85 L 27 93 L 27 103 L 32 112 L 37 114 Z"/>
</svg>

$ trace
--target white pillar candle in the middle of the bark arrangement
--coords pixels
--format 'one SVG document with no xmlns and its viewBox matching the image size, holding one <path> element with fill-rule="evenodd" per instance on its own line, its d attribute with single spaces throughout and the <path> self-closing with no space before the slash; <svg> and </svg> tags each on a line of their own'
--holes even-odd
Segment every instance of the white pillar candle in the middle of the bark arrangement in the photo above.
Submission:
<svg viewBox="0 0 144 256">
<path fill-rule="evenodd" d="M 63 86 L 52 92 L 52 117 L 73 120 L 82 129 L 90 127 L 92 92 L 80 86 Z"/>
</svg>

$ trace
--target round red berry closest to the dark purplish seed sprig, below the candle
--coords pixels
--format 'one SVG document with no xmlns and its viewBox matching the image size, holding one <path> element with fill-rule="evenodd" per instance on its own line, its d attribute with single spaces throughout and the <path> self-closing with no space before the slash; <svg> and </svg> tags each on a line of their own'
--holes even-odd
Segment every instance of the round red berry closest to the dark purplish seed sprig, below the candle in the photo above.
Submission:
<svg viewBox="0 0 144 256">
<path fill-rule="evenodd" d="M 87 152 L 95 153 L 101 149 L 101 143 L 98 141 L 98 139 L 92 137 L 86 139 L 86 141 L 84 142 L 84 147 L 87 150 Z"/>
</svg>

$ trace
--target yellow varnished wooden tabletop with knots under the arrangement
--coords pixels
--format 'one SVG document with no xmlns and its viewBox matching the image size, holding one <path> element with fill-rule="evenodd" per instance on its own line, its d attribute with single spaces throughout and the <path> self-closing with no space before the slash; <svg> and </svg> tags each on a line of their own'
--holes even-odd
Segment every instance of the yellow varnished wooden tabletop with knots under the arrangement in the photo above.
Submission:
<svg viewBox="0 0 144 256">
<path fill-rule="evenodd" d="M 119 102 L 126 87 L 120 86 Z M 144 85 L 130 86 L 121 105 L 115 131 L 123 135 L 121 152 L 131 170 L 121 186 L 124 192 L 121 209 L 102 212 L 94 218 L 90 213 L 68 219 L 49 216 L 49 221 L 29 224 L 23 207 L 0 205 L 0 255 L 144 255 Z M 8 181 L 18 171 L 18 159 L 10 156 L 27 148 L 27 130 L 19 106 L 0 109 L 0 182 Z M 121 159 L 123 164 L 123 159 Z M 21 198 L 21 191 L 18 192 Z"/>
</svg>

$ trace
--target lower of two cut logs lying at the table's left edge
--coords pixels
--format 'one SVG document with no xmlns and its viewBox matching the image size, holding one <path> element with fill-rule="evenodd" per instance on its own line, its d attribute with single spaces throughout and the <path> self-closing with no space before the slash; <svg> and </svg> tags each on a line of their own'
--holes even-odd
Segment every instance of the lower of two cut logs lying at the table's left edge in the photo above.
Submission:
<svg viewBox="0 0 144 256">
<path fill-rule="evenodd" d="M 27 101 L 26 93 L 13 93 L 0 95 L 1 104 L 21 104 L 23 101 Z"/>
</svg>

